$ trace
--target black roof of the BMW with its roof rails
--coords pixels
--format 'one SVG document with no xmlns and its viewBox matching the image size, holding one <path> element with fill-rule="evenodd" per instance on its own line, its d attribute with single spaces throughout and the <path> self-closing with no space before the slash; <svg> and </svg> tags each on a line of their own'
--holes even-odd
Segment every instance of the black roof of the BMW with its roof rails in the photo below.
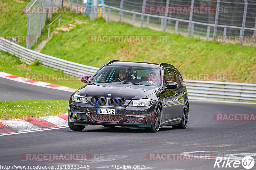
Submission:
<svg viewBox="0 0 256 170">
<path fill-rule="evenodd" d="M 160 68 L 160 66 L 167 66 L 167 67 L 173 67 L 171 64 L 167 64 L 167 63 L 148 63 L 148 62 L 135 62 L 135 61 L 117 61 L 117 60 L 113 60 L 113 61 L 109 61 L 106 65 L 108 66 L 137 66 L 137 67 L 151 67 L 151 68 Z"/>
</svg>

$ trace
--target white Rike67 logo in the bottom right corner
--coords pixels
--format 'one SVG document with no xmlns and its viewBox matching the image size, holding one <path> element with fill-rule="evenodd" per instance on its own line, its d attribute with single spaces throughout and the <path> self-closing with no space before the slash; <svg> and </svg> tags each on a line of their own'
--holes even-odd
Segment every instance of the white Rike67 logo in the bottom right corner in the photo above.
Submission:
<svg viewBox="0 0 256 170">
<path fill-rule="evenodd" d="M 242 161 L 240 160 L 230 160 L 230 157 L 216 157 L 214 168 L 238 168 L 241 165 L 245 169 L 251 169 L 254 166 L 254 159 L 251 156 L 245 156 Z"/>
</svg>

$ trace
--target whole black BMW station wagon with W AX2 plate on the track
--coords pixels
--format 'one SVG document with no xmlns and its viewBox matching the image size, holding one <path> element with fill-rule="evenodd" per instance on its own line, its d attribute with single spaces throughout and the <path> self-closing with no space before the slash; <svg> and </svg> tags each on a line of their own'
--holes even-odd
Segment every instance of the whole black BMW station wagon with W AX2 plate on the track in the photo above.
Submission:
<svg viewBox="0 0 256 170">
<path fill-rule="evenodd" d="M 187 88 L 170 64 L 113 60 L 81 81 L 86 85 L 72 94 L 68 106 L 73 131 L 92 124 L 149 132 L 187 127 Z"/>
</svg>

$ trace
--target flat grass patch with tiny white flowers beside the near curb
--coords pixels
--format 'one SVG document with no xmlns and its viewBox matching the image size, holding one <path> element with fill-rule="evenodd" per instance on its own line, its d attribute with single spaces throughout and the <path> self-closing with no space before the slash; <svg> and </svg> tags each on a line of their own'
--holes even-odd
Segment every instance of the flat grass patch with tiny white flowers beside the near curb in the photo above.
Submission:
<svg viewBox="0 0 256 170">
<path fill-rule="evenodd" d="M 0 102 L 0 120 L 36 118 L 68 112 L 65 100 L 16 100 Z"/>
</svg>

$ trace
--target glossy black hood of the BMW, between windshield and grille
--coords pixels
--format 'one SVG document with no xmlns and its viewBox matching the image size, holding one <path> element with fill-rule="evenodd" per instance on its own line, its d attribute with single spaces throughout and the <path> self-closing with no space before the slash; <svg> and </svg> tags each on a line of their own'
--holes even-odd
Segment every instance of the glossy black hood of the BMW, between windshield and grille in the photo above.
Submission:
<svg viewBox="0 0 256 170">
<path fill-rule="evenodd" d="M 99 82 L 87 84 L 78 91 L 78 94 L 88 97 L 102 96 L 111 98 L 142 99 L 159 89 L 160 87 L 155 86 Z M 111 94 L 111 96 L 107 96 L 108 94 Z"/>
</svg>

